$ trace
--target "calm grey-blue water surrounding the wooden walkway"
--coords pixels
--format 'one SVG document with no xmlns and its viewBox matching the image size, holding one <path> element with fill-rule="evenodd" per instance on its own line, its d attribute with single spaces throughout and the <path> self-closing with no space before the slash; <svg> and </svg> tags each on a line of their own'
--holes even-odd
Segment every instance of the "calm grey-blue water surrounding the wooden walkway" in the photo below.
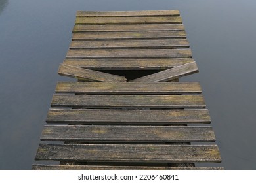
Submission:
<svg viewBox="0 0 256 183">
<path fill-rule="evenodd" d="M 0 169 L 30 169 L 77 10 L 178 9 L 225 169 L 256 169 L 253 0 L 0 0 Z"/>
</svg>

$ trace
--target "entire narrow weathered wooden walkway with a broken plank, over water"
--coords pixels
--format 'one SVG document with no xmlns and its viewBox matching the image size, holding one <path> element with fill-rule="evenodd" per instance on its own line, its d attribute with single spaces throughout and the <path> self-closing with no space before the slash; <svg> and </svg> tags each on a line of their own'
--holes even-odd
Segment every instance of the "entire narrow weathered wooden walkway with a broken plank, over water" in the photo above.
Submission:
<svg viewBox="0 0 256 183">
<path fill-rule="evenodd" d="M 178 10 L 77 12 L 32 169 L 221 169 L 196 72 Z"/>
</svg>

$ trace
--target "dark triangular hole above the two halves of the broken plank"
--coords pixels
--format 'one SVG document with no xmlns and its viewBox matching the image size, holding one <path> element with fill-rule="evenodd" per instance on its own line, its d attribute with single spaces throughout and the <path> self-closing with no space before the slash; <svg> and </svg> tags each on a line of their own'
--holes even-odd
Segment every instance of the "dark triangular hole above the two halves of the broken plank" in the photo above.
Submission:
<svg viewBox="0 0 256 183">
<path fill-rule="evenodd" d="M 140 78 L 142 76 L 158 73 L 161 70 L 104 70 L 104 71 L 100 70 L 100 71 L 104 73 L 109 73 L 112 75 L 124 76 L 125 78 L 127 78 L 127 81 L 129 81 L 135 78 Z"/>
</svg>

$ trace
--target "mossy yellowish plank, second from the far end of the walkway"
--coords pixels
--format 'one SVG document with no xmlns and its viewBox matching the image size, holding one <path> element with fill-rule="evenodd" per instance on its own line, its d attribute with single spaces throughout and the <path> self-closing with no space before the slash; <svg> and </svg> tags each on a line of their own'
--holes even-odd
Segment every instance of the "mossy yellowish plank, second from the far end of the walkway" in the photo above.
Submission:
<svg viewBox="0 0 256 183">
<path fill-rule="evenodd" d="M 182 24 L 181 16 L 77 17 L 75 24 Z"/>
</svg>

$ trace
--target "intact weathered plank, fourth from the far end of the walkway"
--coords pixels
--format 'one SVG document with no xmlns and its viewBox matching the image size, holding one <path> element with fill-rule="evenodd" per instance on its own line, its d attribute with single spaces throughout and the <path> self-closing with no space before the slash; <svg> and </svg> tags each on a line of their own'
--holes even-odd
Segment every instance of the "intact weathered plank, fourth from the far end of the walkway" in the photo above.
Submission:
<svg viewBox="0 0 256 183">
<path fill-rule="evenodd" d="M 129 31 L 73 33 L 72 40 L 100 39 L 186 39 L 185 31 Z"/>
</svg>

